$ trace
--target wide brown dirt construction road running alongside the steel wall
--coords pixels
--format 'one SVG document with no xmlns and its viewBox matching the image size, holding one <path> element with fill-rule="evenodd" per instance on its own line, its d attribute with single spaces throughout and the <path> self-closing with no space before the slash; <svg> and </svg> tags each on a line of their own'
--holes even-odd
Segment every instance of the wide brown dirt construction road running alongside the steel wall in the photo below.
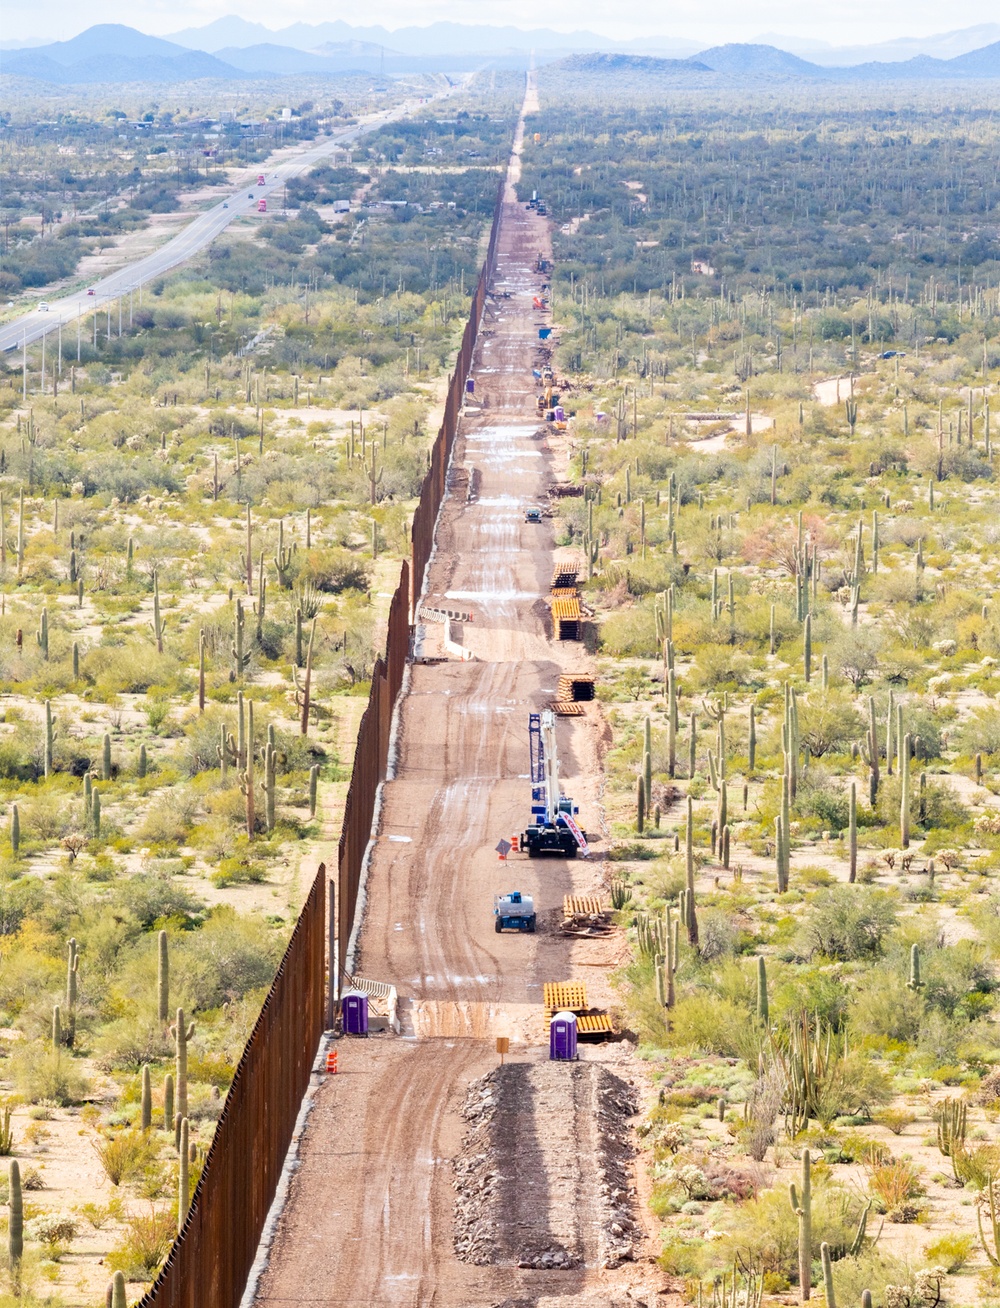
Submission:
<svg viewBox="0 0 1000 1308">
<path fill-rule="evenodd" d="M 593 1078 L 627 1076 L 627 1049 L 587 1049 L 575 1069 L 545 1062 L 542 982 L 584 978 L 600 1003 L 601 964 L 621 950 L 554 931 L 562 896 L 593 892 L 600 863 L 505 867 L 494 852 L 528 820 L 528 712 L 554 698 L 561 671 L 586 667 L 582 646 L 550 638 L 550 528 L 524 522 L 525 505 L 546 502 L 561 458 L 539 432 L 531 374 L 546 317 L 532 309 L 540 252 L 549 254 L 545 220 L 516 204 L 508 182 L 475 373 L 488 403 L 463 420 L 427 593 L 475 612 L 460 637 L 476 658 L 410 668 L 367 880 L 357 971 L 396 985 L 403 1032 L 340 1041 L 340 1074 L 316 1091 L 258 1308 L 663 1303 L 647 1294 L 651 1282 L 639 1288 L 646 1261 L 600 1266 Z M 439 629 L 421 638 L 430 650 Z M 591 833 L 600 731 L 596 705 L 558 723 L 565 790 Z M 535 896 L 539 934 L 494 934 L 493 895 L 510 888 Z M 495 1067 L 498 1035 L 511 1037 L 518 1071 L 493 1130 L 516 1124 L 503 1184 L 518 1201 L 501 1205 L 510 1230 L 494 1261 L 476 1265 L 455 1252 L 454 1160 L 469 1083 Z M 546 1241 L 563 1250 L 563 1270 L 519 1265 L 528 1261 L 519 1249 Z"/>
</svg>

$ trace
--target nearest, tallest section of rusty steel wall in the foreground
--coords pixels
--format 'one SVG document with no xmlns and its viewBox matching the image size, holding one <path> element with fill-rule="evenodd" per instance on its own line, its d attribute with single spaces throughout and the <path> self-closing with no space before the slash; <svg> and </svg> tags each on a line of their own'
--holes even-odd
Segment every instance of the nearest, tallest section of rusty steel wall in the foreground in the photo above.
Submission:
<svg viewBox="0 0 1000 1308">
<path fill-rule="evenodd" d="M 323 1033 L 320 863 L 229 1087 L 180 1235 L 140 1308 L 238 1308 Z"/>
</svg>

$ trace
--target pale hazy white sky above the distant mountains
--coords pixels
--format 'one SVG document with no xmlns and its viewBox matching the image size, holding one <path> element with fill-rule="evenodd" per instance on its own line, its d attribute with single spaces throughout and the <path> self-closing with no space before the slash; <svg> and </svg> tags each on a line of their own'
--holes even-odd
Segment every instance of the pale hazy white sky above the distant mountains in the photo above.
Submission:
<svg viewBox="0 0 1000 1308">
<path fill-rule="evenodd" d="M 344 18 L 352 24 L 387 27 L 424 25 L 439 18 L 459 22 L 510 22 L 522 27 L 569 30 L 590 27 L 608 37 L 629 39 L 644 34 L 684 37 L 708 44 L 746 41 L 763 31 L 813 37 L 835 44 L 860 44 L 893 37 L 924 37 L 939 31 L 996 22 L 996 0 L 908 0 L 907 4 L 872 4 L 871 0 L 369 0 L 363 7 L 316 4 L 315 0 L 3 0 L 8 39 L 44 37 L 64 39 L 94 22 L 124 22 L 144 31 L 166 34 L 200 26 L 226 13 L 264 22 L 322 22 Z"/>
</svg>

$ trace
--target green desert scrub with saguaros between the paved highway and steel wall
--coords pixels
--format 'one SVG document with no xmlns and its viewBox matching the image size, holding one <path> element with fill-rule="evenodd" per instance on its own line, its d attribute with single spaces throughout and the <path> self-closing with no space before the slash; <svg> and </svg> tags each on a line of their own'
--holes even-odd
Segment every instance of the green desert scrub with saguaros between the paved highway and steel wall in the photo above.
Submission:
<svg viewBox="0 0 1000 1308">
<path fill-rule="evenodd" d="M 512 101 L 495 123 L 469 101 L 510 135 Z M 0 375 L 0 1150 L 22 1301 L 105 1301 L 114 1270 L 124 1304 L 154 1275 L 340 818 L 498 182 L 399 179 L 382 153 Z M 346 217 L 324 208 L 341 182 Z"/>
</svg>

